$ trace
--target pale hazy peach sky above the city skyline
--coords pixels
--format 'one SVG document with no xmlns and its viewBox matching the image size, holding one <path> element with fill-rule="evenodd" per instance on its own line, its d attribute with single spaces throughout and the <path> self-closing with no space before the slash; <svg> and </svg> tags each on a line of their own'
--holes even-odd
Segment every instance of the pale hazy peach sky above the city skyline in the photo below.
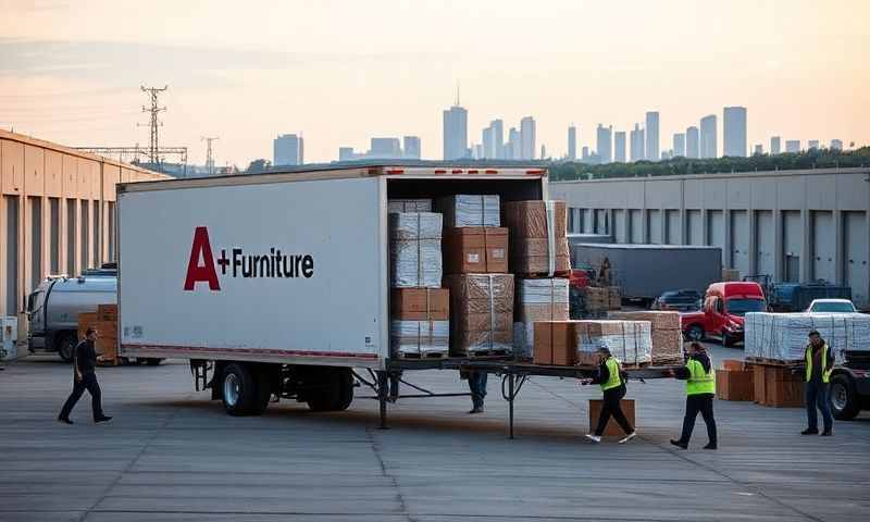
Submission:
<svg viewBox="0 0 870 522">
<path fill-rule="evenodd" d="M 373 136 L 442 156 L 457 83 L 469 137 L 531 114 L 538 148 L 567 127 L 627 130 L 661 113 L 661 148 L 723 105 L 769 137 L 870 142 L 870 1 L 0 0 L 0 127 L 71 146 L 148 142 L 139 85 L 170 86 L 163 145 L 220 136 L 217 164 L 272 158 L 302 132 L 307 161 Z"/>
</svg>

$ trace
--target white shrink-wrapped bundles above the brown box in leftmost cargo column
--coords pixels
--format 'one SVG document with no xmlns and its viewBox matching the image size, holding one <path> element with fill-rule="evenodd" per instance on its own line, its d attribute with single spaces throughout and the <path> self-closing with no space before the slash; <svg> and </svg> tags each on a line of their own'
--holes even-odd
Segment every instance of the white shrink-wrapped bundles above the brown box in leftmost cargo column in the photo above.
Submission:
<svg viewBox="0 0 870 522">
<path fill-rule="evenodd" d="M 390 213 L 389 261 L 393 288 L 440 287 L 442 214 Z"/>
</svg>

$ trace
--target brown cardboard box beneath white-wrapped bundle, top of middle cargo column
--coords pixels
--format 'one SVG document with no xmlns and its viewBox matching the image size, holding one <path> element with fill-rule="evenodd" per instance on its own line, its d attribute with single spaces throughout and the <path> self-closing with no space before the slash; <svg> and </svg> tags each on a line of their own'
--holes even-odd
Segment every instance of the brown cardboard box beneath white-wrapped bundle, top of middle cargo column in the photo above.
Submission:
<svg viewBox="0 0 870 522">
<path fill-rule="evenodd" d="M 447 274 L 504 274 L 508 271 L 508 229 L 469 226 L 445 228 Z"/>
</svg>

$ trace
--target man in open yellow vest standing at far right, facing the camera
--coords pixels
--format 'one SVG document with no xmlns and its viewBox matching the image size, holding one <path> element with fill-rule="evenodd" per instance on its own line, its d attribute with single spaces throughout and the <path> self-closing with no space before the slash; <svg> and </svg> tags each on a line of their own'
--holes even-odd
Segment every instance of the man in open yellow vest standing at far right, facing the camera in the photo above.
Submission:
<svg viewBox="0 0 870 522">
<path fill-rule="evenodd" d="M 819 418 L 816 414 L 818 407 L 822 412 L 824 421 L 823 437 L 833 435 L 834 419 L 831 417 L 831 371 L 834 368 L 834 353 L 828 347 L 828 343 L 822 339 L 817 331 L 809 333 L 809 345 L 804 350 L 806 369 L 804 378 L 807 382 L 807 428 L 800 432 L 801 435 L 818 435 Z"/>
</svg>

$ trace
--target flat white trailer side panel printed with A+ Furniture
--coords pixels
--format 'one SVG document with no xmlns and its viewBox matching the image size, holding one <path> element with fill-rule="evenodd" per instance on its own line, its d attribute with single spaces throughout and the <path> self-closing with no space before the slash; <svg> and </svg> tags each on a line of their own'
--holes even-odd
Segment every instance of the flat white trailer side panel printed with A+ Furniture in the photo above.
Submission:
<svg viewBox="0 0 870 522">
<path fill-rule="evenodd" d="M 384 198 L 376 177 L 130 187 L 122 353 L 383 366 Z"/>
</svg>

